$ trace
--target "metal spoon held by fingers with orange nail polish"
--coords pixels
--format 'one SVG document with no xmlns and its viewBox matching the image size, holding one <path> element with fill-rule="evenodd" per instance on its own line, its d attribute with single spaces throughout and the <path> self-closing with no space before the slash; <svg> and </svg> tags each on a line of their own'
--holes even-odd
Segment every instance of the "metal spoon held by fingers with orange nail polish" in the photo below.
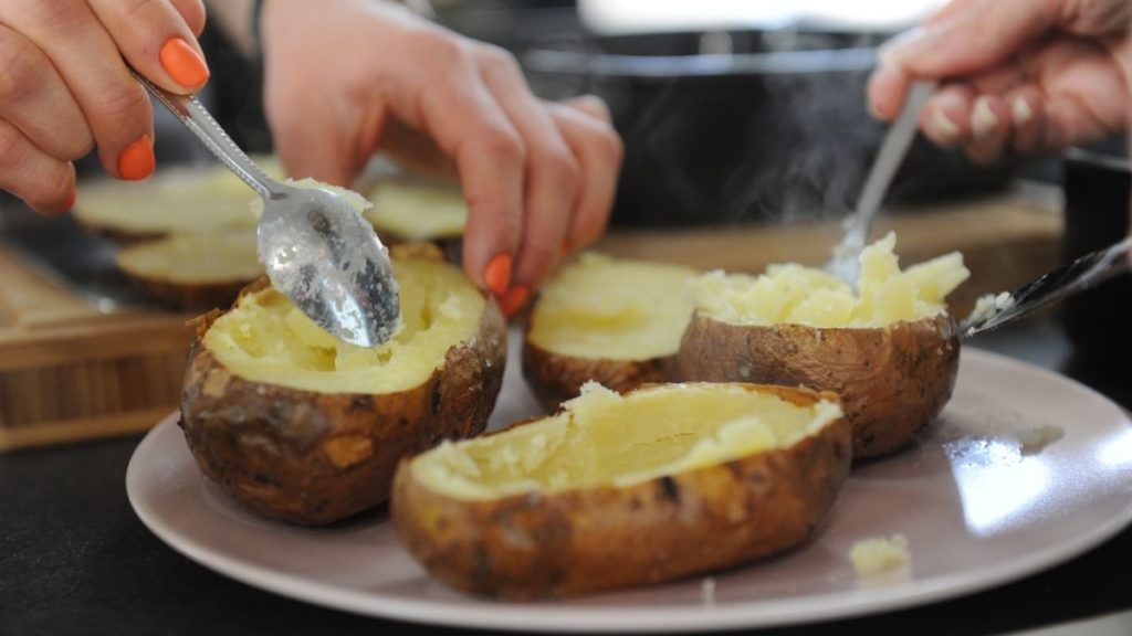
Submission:
<svg viewBox="0 0 1132 636">
<path fill-rule="evenodd" d="M 259 260 L 272 285 L 338 340 L 376 346 L 397 330 L 388 250 L 361 214 L 329 190 L 292 188 L 264 173 L 192 96 L 134 74 L 216 158 L 264 199 Z"/>
</svg>

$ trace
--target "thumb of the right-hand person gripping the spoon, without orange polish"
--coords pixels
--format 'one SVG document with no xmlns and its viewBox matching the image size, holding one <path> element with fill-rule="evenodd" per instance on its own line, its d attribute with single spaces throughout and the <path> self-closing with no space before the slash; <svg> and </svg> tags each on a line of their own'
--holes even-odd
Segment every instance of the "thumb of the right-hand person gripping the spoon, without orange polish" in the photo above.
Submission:
<svg viewBox="0 0 1132 636">
<path fill-rule="evenodd" d="M 964 2 L 924 26 L 884 44 L 882 63 L 923 79 L 942 79 L 994 68 L 1057 24 L 1049 2 L 983 0 Z"/>
</svg>

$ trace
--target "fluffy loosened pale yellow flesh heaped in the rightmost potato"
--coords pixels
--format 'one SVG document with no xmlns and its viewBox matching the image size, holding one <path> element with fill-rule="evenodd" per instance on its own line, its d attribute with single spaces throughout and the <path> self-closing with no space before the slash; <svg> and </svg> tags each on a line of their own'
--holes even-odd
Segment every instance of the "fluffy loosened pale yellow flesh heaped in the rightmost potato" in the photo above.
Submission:
<svg viewBox="0 0 1132 636">
<path fill-rule="evenodd" d="M 735 325 L 814 327 L 882 327 L 945 315 L 944 299 L 970 276 L 962 255 L 952 252 L 901 270 L 895 244 L 890 232 L 865 248 L 857 293 L 825 270 L 772 265 L 761 276 L 713 272 L 693 281 L 696 309 Z"/>
</svg>

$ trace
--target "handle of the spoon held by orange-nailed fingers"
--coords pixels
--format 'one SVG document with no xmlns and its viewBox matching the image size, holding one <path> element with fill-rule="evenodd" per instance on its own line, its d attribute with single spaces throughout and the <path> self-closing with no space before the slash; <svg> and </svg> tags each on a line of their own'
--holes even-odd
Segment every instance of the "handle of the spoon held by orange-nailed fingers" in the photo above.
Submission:
<svg viewBox="0 0 1132 636">
<path fill-rule="evenodd" d="M 134 77 L 169 112 L 180 120 L 205 147 L 212 151 L 245 183 L 251 186 L 259 196 L 267 199 L 281 191 L 278 183 L 268 177 L 251 158 L 235 145 L 235 141 L 224 132 L 205 106 L 192 95 L 177 95 L 153 84 L 134 71 Z"/>
</svg>

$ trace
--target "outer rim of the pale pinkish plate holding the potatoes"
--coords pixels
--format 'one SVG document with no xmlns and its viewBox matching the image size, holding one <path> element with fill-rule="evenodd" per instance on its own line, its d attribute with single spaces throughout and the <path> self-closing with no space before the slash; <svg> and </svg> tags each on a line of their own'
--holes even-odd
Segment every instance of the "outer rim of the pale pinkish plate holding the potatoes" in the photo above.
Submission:
<svg viewBox="0 0 1132 636">
<path fill-rule="evenodd" d="M 1023 371 L 1044 377 L 1046 380 L 1064 384 L 1082 392 L 1092 399 L 1099 399 L 1118 412 L 1124 421 L 1132 426 L 1132 418 L 1129 416 L 1126 410 L 1091 387 L 1056 371 L 981 349 L 966 349 L 961 358 L 975 358 L 978 360 L 976 363 L 1005 366 L 1014 371 Z M 174 435 L 173 430 L 178 429 L 178 418 L 179 412 L 174 411 L 146 433 L 130 456 L 126 471 L 126 490 L 131 508 L 142 523 L 162 542 L 190 560 L 251 587 L 295 601 L 355 614 L 421 625 L 462 628 L 475 626 L 477 628 L 537 633 L 561 631 L 563 629 L 584 633 L 672 633 L 686 631 L 689 628 L 701 631 L 717 631 L 855 618 L 961 598 L 1018 581 L 1077 558 L 1115 536 L 1132 523 L 1132 499 L 1130 499 L 1120 514 L 1114 514 L 1104 523 L 1094 526 L 1090 532 L 1075 535 L 1071 541 L 1062 544 L 1058 550 L 1032 552 L 1026 557 L 1015 558 L 1006 566 L 998 566 L 985 576 L 971 578 L 970 570 L 968 570 L 967 573 L 951 573 L 917 582 L 911 590 L 898 585 L 831 592 L 797 599 L 775 599 L 772 603 L 773 611 L 766 603 L 757 602 L 737 605 L 704 603 L 678 608 L 654 605 L 586 605 L 578 608 L 556 602 L 507 603 L 471 598 L 474 604 L 439 608 L 440 603 L 435 600 L 389 598 L 311 579 L 308 576 L 278 571 L 267 566 L 241 562 L 235 557 L 208 548 L 201 541 L 185 534 L 166 523 L 156 513 L 142 506 L 143 496 L 139 489 L 144 484 L 142 483 L 143 478 L 139 476 L 140 465 L 148 454 L 153 453 L 149 447 L 160 444 L 162 436 Z M 187 447 L 185 452 L 188 453 Z M 195 466 L 195 463 L 191 465 Z M 198 476 L 207 479 L 204 475 Z M 839 602 L 831 603 L 830 599 L 833 598 L 837 598 Z M 566 602 L 568 603 L 568 600 Z M 438 612 L 437 609 L 444 611 Z M 580 612 L 580 609 L 583 611 Z M 705 619 L 709 619 L 706 624 Z"/>
</svg>

